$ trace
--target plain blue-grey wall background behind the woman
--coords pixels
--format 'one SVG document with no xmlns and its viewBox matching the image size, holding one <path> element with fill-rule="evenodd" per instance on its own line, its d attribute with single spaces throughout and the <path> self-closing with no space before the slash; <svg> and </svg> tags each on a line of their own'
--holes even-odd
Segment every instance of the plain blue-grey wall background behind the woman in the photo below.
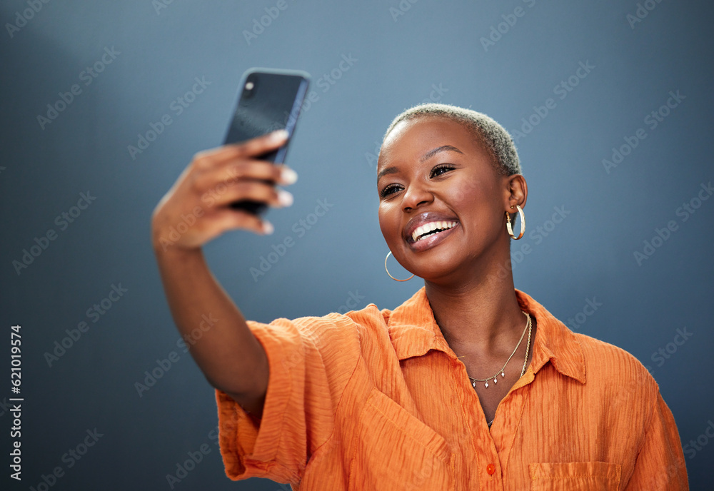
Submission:
<svg viewBox="0 0 714 491">
<path fill-rule="evenodd" d="M 276 1 L 173 1 L 158 10 L 150 1 L 49 1 L 12 36 L 6 23 L 29 7 L 2 3 L 0 326 L 7 360 L 10 326 L 22 325 L 21 489 L 38 489 L 57 466 L 64 475 L 53 490 L 171 489 L 166 475 L 204 443 L 211 451 L 174 489 L 286 488 L 224 476 L 208 436 L 216 426 L 213 391 L 176 346 L 149 242 L 151 211 L 194 153 L 221 143 L 238 81 L 251 66 L 308 71 L 318 101 L 298 124 L 288 154 L 300 176 L 290 186 L 295 203 L 269 213 L 273 236 L 229 233 L 206 246 L 246 318 L 344 311 L 351 294 L 363 297 L 358 308 L 395 308 L 422 283 L 396 283 L 383 270 L 388 249 L 368 154 L 391 119 L 431 96 L 515 131 L 553 98 L 555 108 L 518 141 L 530 193 L 528 230 L 513 250 L 530 243 L 533 252 L 514 263 L 516 288 L 576 332 L 633 353 L 658 381 L 683 444 L 708 442 L 714 200 L 695 201 L 700 208 L 687 221 L 677 211 L 714 178 L 713 6 L 650 1 L 654 9 L 631 24 L 634 0 L 403 1 L 398 16 L 390 10 L 397 1 L 286 5 L 248 43 L 243 31 Z M 484 49 L 481 39 L 518 6 L 523 16 L 503 24 L 505 34 Z M 85 86 L 81 72 L 112 47 L 116 59 Z M 343 55 L 356 59 L 348 71 L 338 68 Z M 580 62 L 595 68 L 561 100 L 553 88 Z M 339 79 L 329 84 L 321 77 L 333 70 Z M 169 106 L 194 77 L 211 84 L 177 116 Z M 81 93 L 41 128 L 37 116 L 74 83 Z M 685 98 L 650 129 L 645 117 L 670 91 Z M 171 126 L 131 158 L 127 146 L 166 113 Z M 638 128 L 648 137 L 606 172 L 603 159 Z M 56 217 L 87 191 L 96 200 L 59 230 Z M 293 224 L 318 199 L 332 207 L 298 237 Z M 548 223 L 554 207 L 570 212 L 555 226 Z M 638 265 L 635 251 L 668 221 L 677 230 Z M 533 236 L 538 226 L 548 236 Z M 56 240 L 16 273 L 13 260 L 49 229 Z M 254 281 L 250 268 L 287 236 L 295 246 Z M 391 272 L 407 275 L 396 262 Z M 86 310 L 120 283 L 126 293 L 92 323 Z M 593 298 L 602 305 L 586 316 Z M 575 325 L 577 318 L 585 322 Z M 50 367 L 45 353 L 82 320 L 89 330 Z M 692 335 L 675 345 L 678 329 Z M 658 358 L 660 349 L 668 358 Z M 139 397 L 134 384 L 172 351 L 178 361 Z M 9 370 L 9 362 L 2 366 Z M 10 397 L 4 385 L 0 400 Z M 7 435 L 11 418 L 0 410 Z M 104 436 L 69 467 L 63 455 L 95 427 Z M 7 470 L 10 442 L 3 441 Z M 714 445 L 689 448 L 691 488 L 706 489 Z M 7 474 L 1 480 L 14 484 Z"/>
</svg>

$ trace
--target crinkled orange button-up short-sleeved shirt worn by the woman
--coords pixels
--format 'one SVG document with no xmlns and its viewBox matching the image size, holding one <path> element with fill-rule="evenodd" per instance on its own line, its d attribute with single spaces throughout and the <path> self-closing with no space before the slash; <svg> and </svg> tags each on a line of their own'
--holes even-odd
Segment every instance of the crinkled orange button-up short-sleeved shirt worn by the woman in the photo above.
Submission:
<svg viewBox="0 0 714 491">
<path fill-rule="evenodd" d="M 293 490 L 687 490 L 672 413 L 625 350 L 538 323 L 533 359 L 488 430 L 425 288 L 395 310 L 249 322 L 268 355 L 261 420 L 216 392 L 233 480 Z"/>
</svg>

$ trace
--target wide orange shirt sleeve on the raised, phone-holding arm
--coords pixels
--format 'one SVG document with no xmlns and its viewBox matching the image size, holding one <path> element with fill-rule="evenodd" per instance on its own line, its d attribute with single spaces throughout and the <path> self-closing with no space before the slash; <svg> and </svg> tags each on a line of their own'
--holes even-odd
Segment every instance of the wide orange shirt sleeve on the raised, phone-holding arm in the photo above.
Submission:
<svg viewBox="0 0 714 491">
<path fill-rule="evenodd" d="M 336 408 L 359 354 L 353 321 L 344 315 L 248 321 L 268 357 L 261 419 L 216 390 L 218 441 L 232 480 L 301 480 L 313 452 L 333 435 Z"/>
</svg>

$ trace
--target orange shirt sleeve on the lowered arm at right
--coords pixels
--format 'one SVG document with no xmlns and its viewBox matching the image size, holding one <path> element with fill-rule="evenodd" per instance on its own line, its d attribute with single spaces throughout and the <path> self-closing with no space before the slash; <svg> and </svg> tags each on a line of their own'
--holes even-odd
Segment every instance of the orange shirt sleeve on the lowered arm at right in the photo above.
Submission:
<svg viewBox="0 0 714 491">
<path fill-rule="evenodd" d="M 677 425 L 659 390 L 645 431 L 645 441 L 625 490 L 689 490 Z"/>
</svg>

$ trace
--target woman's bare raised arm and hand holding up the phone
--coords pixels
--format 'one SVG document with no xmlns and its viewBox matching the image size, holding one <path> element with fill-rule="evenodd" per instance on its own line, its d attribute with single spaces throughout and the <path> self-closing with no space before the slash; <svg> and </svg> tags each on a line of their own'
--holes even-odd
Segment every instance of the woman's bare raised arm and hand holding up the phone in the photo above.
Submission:
<svg viewBox="0 0 714 491">
<path fill-rule="evenodd" d="M 271 206 L 291 204 L 289 193 L 278 191 L 275 184 L 293 183 L 294 172 L 256 160 L 284 141 L 284 134 L 273 133 L 196 154 L 156 206 L 151 221 L 169 308 L 193 359 L 213 387 L 258 417 L 268 387 L 268 359 L 208 269 L 201 246 L 228 230 L 271 232 L 261 218 L 234 210 L 230 203 L 250 199 Z"/>
</svg>

